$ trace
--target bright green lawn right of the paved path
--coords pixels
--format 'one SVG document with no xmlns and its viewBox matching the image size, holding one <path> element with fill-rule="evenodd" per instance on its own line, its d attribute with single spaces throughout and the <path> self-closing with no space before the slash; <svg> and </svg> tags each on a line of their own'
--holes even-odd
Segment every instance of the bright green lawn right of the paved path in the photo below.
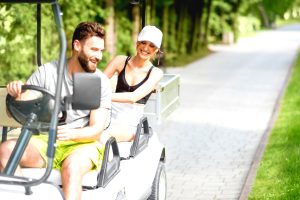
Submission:
<svg viewBox="0 0 300 200">
<path fill-rule="evenodd" d="M 300 54 L 249 199 L 300 199 Z"/>
</svg>

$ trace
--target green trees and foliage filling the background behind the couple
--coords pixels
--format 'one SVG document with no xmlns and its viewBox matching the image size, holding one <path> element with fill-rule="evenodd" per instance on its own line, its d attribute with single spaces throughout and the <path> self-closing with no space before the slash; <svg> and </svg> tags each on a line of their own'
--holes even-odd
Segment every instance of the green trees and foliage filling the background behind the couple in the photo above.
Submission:
<svg viewBox="0 0 300 200">
<path fill-rule="evenodd" d="M 146 1 L 146 0 L 145 0 Z M 300 0 L 147 0 L 146 24 L 163 30 L 164 65 L 182 63 L 190 55 L 202 55 L 209 42 L 219 42 L 224 32 L 257 30 L 284 14 L 297 13 Z M 112 55 L 135 53 L 135 39 L 141 27 L 138 13 L 133 13 L 130 0 L 59 0 L 71 54 L 71 38 L 81 21 L 97 21 L 114 34 L 112 53 L 104 52 L 99 68 L 103 69 Z M 111 6 L 113 4 L 113 6 Z M 107 7 L 110 5 L 109 9 Z M 113 21 L 107 19 L 114 10 Z M 139 5 L 141 8 L 141 5 Z M 0 4 L 0 84 L 24 80 L 36 69 L 36 6 L 34 4 Z M 286 14 L 287 16 L 288 14 Z M 293 14 L 294 15 L 294 14 Z M 110 25 L 110 26 L 109 26 Z M 51 5 L 42 5 L 42 63 L 57 59 L 59 42 Z M 109 54 L 112 53 L 112 55 Z M 192 56 L 193 57 L 193 56 Z"/>
</svg>

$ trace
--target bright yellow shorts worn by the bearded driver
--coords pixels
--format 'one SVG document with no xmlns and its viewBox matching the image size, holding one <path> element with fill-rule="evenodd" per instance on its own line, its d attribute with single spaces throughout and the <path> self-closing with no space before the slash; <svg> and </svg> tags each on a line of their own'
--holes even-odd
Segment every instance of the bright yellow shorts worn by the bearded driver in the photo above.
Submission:
<svg viewBox="0 0 300 200">
<path fill-rule="evenodd" d="M 40 152 L 41 156 L 45 160 L 47 164 L 47 147 L 48 147 L 48 135 L 34 135 L 32 136 L 30 143 L 33 144 Z M 75 150 L 77 151 L 80 148 L 95 148 L 98 153 L 95 154 L 87 154 L 90 156 L 90 159 L 93 163 L 93 170 L 98 170 L 101 167 L 101 163 L 104 155 L 105 146 L 101 145 L 98 141 L 87 142 L 87 143 L 79 143 L 74 141 L 56 141 L 56 151 L 53 159 L 53 168 L 61 169 L 62 163 L 70 154 L 72 154 Z"/>
</svg>

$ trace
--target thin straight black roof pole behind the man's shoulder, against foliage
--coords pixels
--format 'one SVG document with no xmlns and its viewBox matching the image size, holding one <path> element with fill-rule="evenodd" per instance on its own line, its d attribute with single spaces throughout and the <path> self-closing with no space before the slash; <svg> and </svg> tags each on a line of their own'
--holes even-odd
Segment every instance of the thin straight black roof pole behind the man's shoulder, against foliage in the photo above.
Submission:
<svg viewBox="0 0 300 200">
<path fill-rule="evenodd" d="M 36 61 L 37 65 L 41 66 L 41 10 L 42 6 L 40 3 L 36 5 Z"/>
</svg>

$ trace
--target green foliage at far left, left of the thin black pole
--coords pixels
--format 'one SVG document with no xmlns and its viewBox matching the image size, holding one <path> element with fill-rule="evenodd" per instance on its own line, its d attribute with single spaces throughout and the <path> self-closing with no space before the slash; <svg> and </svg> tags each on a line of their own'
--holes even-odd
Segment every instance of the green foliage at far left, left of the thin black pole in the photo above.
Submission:
<svg viewBox="0 0 300 200">
<path fill-rule="evenodd" d="M 35 60 L 33 5 L 1 4 L 0 81 L 22 79 L 31 73 Z M 24 21 L 23 19 L 27 20 Z M 30 28 L 28 28 L 30 27 Z"/>
</svg>

